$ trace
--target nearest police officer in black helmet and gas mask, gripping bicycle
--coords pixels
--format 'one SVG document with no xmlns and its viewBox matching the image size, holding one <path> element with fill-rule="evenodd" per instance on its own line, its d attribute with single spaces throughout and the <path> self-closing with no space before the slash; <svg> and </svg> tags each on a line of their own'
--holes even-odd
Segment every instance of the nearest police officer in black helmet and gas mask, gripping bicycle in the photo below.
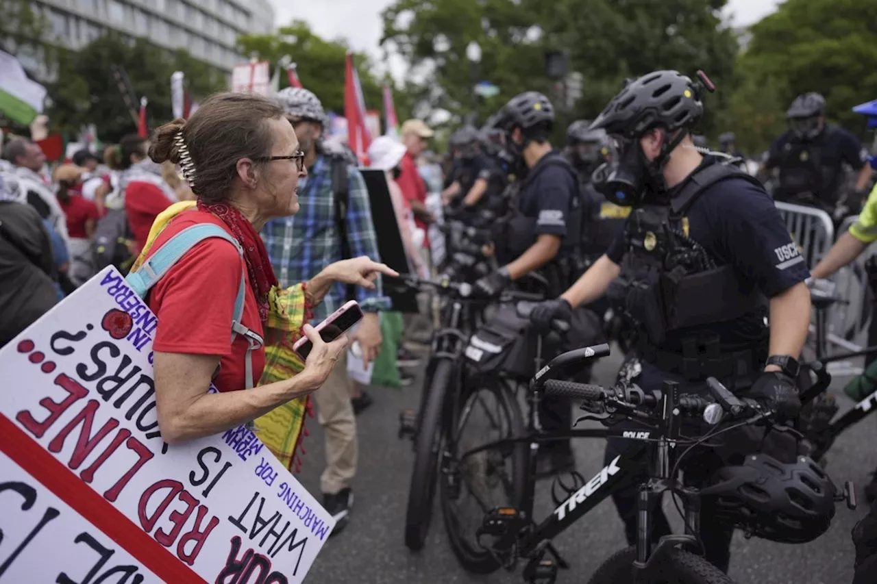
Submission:
<svg viewBox="0 0 877 584">
<path fill-rule="evenodd" d="M 795 358 L 810 314 L 808 270 L 759 182 L 695 149 L 689 132 L 702 117 L 704 88 L 711 88 L 705 77 L 693 83 L 676 71 L 657 71 L 627 85 L 595 120 L 591 127 L 605 129 L 612 146 L 611 162 L 595 172 L 595 187 L 633 210 L 610 250 L 560 298 L 541 303 L 531 318 L 540 328 L 568 318 L 573 307 L 601 296 L 619 274 L 622 259 L 631 256 L 652 279 L 629 291 L 640 335 L 622 367 L 623 379 L 646 390 L 673 380 L 682 393 L 702 393 L 705 379 L 715 376 L 795 416 L 801 406 L 793 381 Z M 721 457 L 759 447 L 759 440 L 724 438 L 729 434 L 717 437 L 724 440 L 723 449 L 702 452 L 696 462 L 689 459 L 686 481 L 705 481 L 724 466 Z M 610 438 L 607 460 L 627 442 Z M 613 499 L 634 545 L 636 494 L 620 491 Z M 716 523 L 708 502 L 702 505 L 706 557 L 727 571 L 732 529 Z M 660 509 L 653 528 L 655 539 L 670 532 Z"/>
</svg>

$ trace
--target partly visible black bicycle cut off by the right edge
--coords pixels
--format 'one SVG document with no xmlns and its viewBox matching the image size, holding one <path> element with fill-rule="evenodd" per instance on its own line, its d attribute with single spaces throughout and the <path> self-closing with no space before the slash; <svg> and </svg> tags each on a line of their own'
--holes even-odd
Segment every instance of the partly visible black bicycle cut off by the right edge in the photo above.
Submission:
<svg viewBox="0 0 877 584">
<path fill-rule="evenodd" d="M 830 363 L 877 353 L 877 346 L 871 346 L 860 351 L 829 355 L 826 313 L 834 304 L 846 303 L 846 301 L 834 296 L 834 285 L 831 281 L 818 280 L 810 290 L 810 300 L 816 310 L 815 347 L 808 347 L 809 362 L 802 364 L 802 375 L 805 376 L 803 383 L 809 381 L 806 376 L 809 376 L 810 372 L 819 374 Z M 866 375 L 866 372 L 863 371 L 862 375 Z M 877 383 L 877 380 L 873 382 Z M 808 403 L 803 408 L 798 422 L 799 429 L 811 447 L 810 457 L 823 466 L 827 464 L 825 455 L 838 436 L 852 424 L 859 423 L 862 418 L 877 410 L 877 392 L 875 392 L 861 398 L 843 416 L 835 419 L 840 406 L 834 395 L 826 389 L 827 385 L 823 388 L 821 383 L 816 383 L 813 387 L 802 391 L 802 402 Z"/>
</svg>

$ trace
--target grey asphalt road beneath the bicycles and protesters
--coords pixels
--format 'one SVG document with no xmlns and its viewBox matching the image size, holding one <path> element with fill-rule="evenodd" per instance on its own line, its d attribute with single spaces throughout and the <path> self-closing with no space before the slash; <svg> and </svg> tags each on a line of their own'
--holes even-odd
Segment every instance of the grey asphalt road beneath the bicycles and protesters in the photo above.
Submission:
<svg viewBox="0 0 877 584">
<path fill-rule="evenodd" d="M 595 367 L 595 382 L 614 380 L 620 355 L 602 360 Z M 843 380 L 833 385 L 842 387 Z M 305 578 L 309 584 L 439 584 L 452 582 L 522 582 L 516 573 L 500 571 L 488 576 L 467 573 L 457 563 L 447 543 L 440 510 L 436 505 L 429 541 L 422 552 L 412 553 L 403 542 L 405 506 L 413 463 L 410 441 L 397 438 L 398 414 L 418 403 L 420 380 L 410 388 L 372 388 L 374 405 L 357 418 L 360 437 L 360 466 L 353 482 L 355 502 L 351 523 L 330 539 Z M 839 390 L 839 388 L 838 388 Z M 841 395 L 844 407 L 852 402 Z M 298 476 L 311 493 L 319 493 L 323 469 L 323 433 L 316 420 L 309 421 L 307 454 Z M 838 484 L 855 481 L 859 498 L 868 474 L 877 466 L 877 424 L 866 418 L 838 438 L 829 453 L 828 471 Z M 574 443 L 577 469 L 586 478 L 602 467 L 602 439 L 580 439 Z M 548 489 L 538 485 L 537 515 L 553 509 Z M 678 514 L 665 501 L 667 517 L 681 531 Z M 831 530 L 806 545 L 782 545 L 761 539 L 746 540 L 735 534 L 731 549 L 731 578 L 738 584 L 845 584 L 852 581 L 853 550 L 850 530 L 865 506 L 850 511 L 838 505 Z M 554 540 L 572 568 L 563 570 L 559 584 L 587 582 L 603 559 L 624 547 L 621 521 L 611 502 L 584 516 Z M 624 583 L 619 583 L 624 584 Z"/>
</svg>

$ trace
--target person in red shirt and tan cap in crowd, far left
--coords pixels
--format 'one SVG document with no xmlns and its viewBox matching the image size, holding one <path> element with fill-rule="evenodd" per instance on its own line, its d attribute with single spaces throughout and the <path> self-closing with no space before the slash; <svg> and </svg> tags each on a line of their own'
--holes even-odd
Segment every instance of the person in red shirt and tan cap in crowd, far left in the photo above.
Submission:
<svg viewBox="0 0 877 584">
<path fill-rule="evenodd" d="M 54 171 L 54 181 L 58 183 L 55 196 L 67 217 L 68 276 L 76 286 L 82 286 L 94 275 L 91 239 L 100 217 L 96 204 L 82 196 L 82 177 L 85 175 L 86 169 L 74 164 L 62 164 Z"/>
</svg>

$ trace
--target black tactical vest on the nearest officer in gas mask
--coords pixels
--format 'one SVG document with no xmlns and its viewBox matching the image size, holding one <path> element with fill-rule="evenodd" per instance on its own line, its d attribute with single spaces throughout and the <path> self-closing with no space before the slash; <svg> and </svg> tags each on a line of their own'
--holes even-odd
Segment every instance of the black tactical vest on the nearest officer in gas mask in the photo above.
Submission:
<svg viewBox="0 0 877 584">
<path fill-rule="evenodd" d="M 633 269 L 647 274 L 627 294 L 627 309 L 650 345 L 660 346 L 667 333 L 722 323 L 755 310 L 764 297 L 757 288 L 745 291 L 730 265 L 715 260 L 688 238 L 685 212 L 717 182 L 750 176 L 723 164 L 695 172 L 669 205 L 645 205 L 631 211 L 624 237 Z"/>
</svg>

